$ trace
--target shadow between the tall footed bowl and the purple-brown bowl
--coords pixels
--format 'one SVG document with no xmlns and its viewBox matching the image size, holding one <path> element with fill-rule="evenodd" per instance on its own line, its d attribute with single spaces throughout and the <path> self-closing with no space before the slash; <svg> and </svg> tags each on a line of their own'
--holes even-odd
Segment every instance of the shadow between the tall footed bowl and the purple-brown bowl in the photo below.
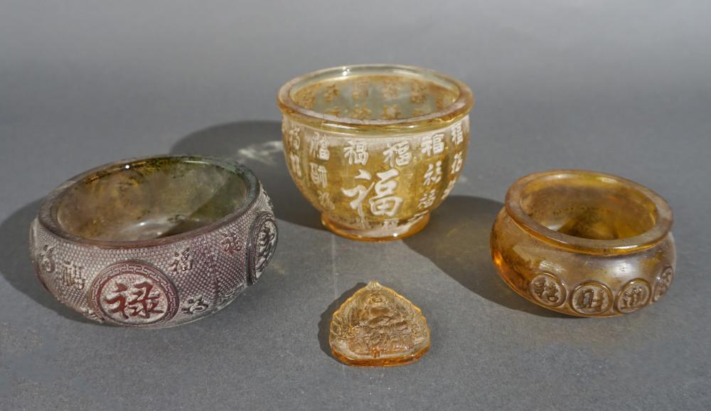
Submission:
<svg viewBox="0 0 711 411">
<path fill-rule="evenodd" d="M 323 230 L 319 212 L 299 193 L 289 176 L 279 122 L 233 122 L 208 127 L 180 139 L 171 153 L 236 159 L 262 181 L 277 218 Z"/>
</svg>

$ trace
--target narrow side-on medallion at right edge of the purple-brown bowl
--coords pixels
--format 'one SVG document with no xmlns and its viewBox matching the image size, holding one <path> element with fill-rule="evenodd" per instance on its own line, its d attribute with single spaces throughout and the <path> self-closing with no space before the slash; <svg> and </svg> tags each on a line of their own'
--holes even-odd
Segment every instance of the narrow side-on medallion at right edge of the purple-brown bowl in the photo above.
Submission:
<svg viewBox="0 0 711 411">
<path fill-rule="evenodd" d="M 247 282 L 254 284 L 267 268 L 277 248 L 277 224 L 270 213 L 262 213 L 252 223 L 250 246 L 247 247 Z"/>
</svg>

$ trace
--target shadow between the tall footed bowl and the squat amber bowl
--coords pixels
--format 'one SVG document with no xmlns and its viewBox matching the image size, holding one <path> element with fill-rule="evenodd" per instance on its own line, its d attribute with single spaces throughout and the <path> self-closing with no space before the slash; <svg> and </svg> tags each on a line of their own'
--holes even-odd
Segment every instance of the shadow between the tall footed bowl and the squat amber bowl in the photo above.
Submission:
<svg viewBox="0 0 711 411">
<path fill-rule="evenodd" d="M 485 198 L 451 196 L 434 210 L 422 232 L 403 241 L 489 301 L 538 316 L 573 318 L 526 301 L 498 277 L 491 262 L 489 235 L 502 207 L 503 203 Z"/>
</svg>

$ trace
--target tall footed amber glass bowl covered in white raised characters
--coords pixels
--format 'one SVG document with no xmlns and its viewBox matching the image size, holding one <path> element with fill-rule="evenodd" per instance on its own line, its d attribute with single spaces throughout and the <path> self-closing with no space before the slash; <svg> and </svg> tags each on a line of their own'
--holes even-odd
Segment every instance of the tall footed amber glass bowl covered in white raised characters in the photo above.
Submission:
<svg viewBox="0 0 711 411">
<path fill-rule="evenodd" d="M 464 166 L 474 97 L 434 71 L 331 68 L 287 82 L 277 101 L 289 173 L 345 237 L 417 233 Z"/>
</svg>

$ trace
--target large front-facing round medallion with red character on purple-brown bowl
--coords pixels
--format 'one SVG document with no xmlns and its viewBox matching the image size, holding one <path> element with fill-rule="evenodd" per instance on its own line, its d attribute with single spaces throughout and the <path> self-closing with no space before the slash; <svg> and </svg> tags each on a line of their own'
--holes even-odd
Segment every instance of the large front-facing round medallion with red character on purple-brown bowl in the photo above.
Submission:
<svg viewBox="0 0 711 411">
<path fill-rule="evenodd" d="M 93 309 L 103 319 L 124 326 L 146 326 L 171 319 L 178 293 L 159 269 L 144 262 L 117 262 L 92 282 Z"/>
</svg>

